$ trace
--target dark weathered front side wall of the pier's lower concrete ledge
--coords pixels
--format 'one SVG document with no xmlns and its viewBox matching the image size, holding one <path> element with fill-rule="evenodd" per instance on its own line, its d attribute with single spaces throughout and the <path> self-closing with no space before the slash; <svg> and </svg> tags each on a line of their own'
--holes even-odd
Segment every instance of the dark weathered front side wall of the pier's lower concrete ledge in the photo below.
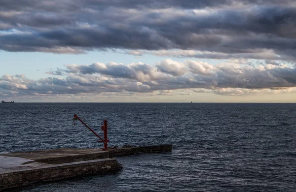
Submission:
<svg viewBox="0 0 296 192">
<path fill-rule="evenodd" d="M 63 180 L 84 175 L 106 174 L 122 167 L 115 159 L 87 160 L 81 162 L 45 165 L 0 173 L 0 191 L 25 187 L 38 182 Z"/>
</svg>

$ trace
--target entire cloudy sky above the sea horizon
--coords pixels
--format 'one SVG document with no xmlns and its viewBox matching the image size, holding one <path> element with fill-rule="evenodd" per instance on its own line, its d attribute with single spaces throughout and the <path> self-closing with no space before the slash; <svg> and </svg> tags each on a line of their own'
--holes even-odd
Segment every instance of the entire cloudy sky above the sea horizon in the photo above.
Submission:
<svg viewBox="0 0 296 192">
<path fill-rule="evenodd" d="M 296 1 L 0 0 L 0 99 L 296 102 Z"/>
</svg>

